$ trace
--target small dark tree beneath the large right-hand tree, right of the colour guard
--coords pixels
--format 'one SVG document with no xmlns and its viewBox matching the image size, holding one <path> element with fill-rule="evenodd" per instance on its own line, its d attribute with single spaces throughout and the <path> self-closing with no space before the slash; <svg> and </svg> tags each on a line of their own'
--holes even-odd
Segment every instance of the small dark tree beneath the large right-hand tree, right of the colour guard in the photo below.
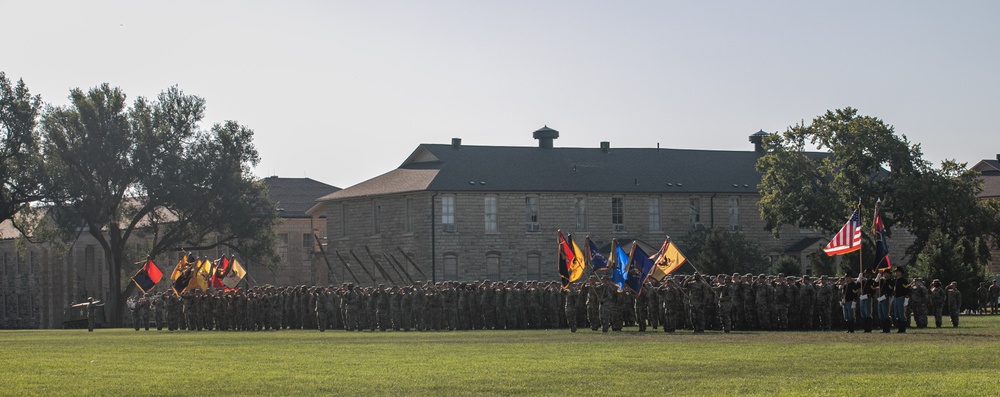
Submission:
<svg viewBox="0 0 1000 397">
<path fill-rule="evenodd" d="M 962 306 L 972 308 L 976 298 L 976 288 L 987 280 L 982 266 L 983 244 L 978 238 L 954 238 L 943 232 L 934 232 L 930 240 L 917 255 L 917 264 L 911 277 L 923 277 L 928 281 L 939 279 L 942 284 L 955 281 L 962 292 Z M 929 283 L 928 283 L 929 284 Z"/>
</svg>

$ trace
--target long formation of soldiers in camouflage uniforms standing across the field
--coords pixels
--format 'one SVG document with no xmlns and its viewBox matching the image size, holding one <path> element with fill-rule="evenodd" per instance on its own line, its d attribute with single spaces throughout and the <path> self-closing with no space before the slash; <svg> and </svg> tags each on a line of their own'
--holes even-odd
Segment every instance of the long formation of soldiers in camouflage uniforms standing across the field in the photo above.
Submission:
<svg viewBox="0 0 1000 397">
<path fill-rule="evenodd" d="M 940 284 L 940 283 L 938 283 Z M 665 332 L 853 329 L 843 278 L 719 275 L 649 281 L 640 293 L 592 276 L 568 289 L 557 282 L 441 282 L 403 287 L 274 287 L 146 294 L 129 299 L 136 330 L 473 330 L 577 328 L 617 331 L 638 326 Z M 915 280 L 908 315 L 952 315 L 960 294 Z M 957 296 L 952 296 L 957 295 Z M 870 304 L 874 305 L 874 300 Z M 874 308 L 874 306 L 872 306 Z M 945 311 L 947 309 L 947 311 Z M 852 306 L 853 318 L 863 314 Z M 836 315 L 835 315 L 836 314 Z M 910 320 L 907 319 L 909 322 Z"/>
</svg>

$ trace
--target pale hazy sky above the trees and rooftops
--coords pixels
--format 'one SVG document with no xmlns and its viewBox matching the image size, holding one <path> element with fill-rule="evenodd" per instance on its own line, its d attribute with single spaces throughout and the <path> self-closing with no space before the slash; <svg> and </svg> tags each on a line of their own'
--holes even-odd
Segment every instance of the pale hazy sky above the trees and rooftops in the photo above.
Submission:
<svg viewBox="0 0 1000 397">
<path fill-rule="evenodd" d="M 177 85 L 258 176 L 348 187 L 421 143 L 752 150 L 854 107 L 934 163 L 1000 153 L 1000 2 L 9 1 L 0 71 L 65 106 Z"/>
</svg>

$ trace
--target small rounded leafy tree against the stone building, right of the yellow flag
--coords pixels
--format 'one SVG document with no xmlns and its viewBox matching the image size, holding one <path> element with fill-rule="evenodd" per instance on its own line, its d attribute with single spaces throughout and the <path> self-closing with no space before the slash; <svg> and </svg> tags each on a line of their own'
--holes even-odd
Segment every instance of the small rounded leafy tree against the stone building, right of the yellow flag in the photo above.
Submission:
<svg viewBox="0 0 1000 397">
<path fill-rule="evenodd" d="M 681 237 L 678 246 L 704 274 L 757 274 L 767 270 L 767 261 L 756 243 L 722 228 L 696 228 Z"/>
</svg>

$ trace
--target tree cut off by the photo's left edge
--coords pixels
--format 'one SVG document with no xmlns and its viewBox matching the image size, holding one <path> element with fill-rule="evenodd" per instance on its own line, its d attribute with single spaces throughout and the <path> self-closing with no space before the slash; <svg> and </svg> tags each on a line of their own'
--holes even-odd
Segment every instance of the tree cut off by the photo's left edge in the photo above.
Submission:
<svg viewBox="0 0 1000 397">
<path fill-rule="evenodd" d="M 41 97 L 32 96 L 24 80 L 12 85 L 0 72 L 0 222 L 41 198 L 35 130 L 41 106 Z"/>
</svg>

